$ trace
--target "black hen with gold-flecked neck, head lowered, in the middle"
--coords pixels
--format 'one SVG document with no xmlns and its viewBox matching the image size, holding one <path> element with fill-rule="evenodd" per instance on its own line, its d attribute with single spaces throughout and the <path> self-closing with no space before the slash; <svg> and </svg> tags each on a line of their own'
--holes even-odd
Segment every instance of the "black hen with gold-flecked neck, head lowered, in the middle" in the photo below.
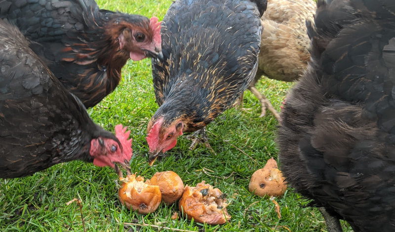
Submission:
<svg viewBox="0 0 395 232">
<path fill-rule="evenodd" d="M 162 23 L 163 59 L 152 59 L 158 110 L 148 123 L 149 163 L 184 132 L 232 106 L 255 76 L 266 0 L 176 0 Z"/>
</svg>

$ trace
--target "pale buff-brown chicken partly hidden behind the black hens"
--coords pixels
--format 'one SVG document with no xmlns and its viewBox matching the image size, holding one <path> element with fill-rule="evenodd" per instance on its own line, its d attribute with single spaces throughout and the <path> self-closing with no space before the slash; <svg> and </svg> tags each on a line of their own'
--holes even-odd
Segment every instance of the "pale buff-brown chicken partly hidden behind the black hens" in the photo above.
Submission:
<svg viewBox="0 0 395 232">
<path fill-rule="evenodd" d="M 262 16 L 261 51 L 258 70 L 248 89 L 259 99 L 261 115 L 269 109 L 279 120 L 279 114 L 270 101 L 255 87 L 265 75 L 280 81 L 296 81 L 310 60 L 310 39 L 306 33 L 306 20 L 313 20 L 316 3 L 313 0 L 269 0 Z M 243 96 L 236 106 L 242 103 Z"/>
</svg>

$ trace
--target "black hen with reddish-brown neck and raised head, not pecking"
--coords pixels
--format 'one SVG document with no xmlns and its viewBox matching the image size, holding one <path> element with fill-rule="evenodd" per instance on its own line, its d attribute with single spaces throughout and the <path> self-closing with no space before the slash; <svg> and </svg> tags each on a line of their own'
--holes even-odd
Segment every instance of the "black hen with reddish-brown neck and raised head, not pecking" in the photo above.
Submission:
<svg viewBox="0 0 395 232">
<path fill-rule="evenodd" d="M 2 0 L 0 17 L 18 26 L 85 107 L 117 87 L 129 58 L 161 57 L 157 18 L 99 9 L 94 0 Z"/>
</svg>

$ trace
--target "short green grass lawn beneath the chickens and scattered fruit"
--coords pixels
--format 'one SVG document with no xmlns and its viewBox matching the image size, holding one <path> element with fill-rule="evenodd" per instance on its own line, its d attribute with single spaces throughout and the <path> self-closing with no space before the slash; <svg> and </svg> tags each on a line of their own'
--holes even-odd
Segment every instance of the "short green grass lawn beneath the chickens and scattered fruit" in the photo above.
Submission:
<svg viewBox="0 0 395 232">
<path fill-rule="evenodd" d="M 171 0 L 100 0 L 102 8 L 138 13 L 163 18 Z M 150 178 L 155 172 L 173 170 L 185 184 L 194 186 L 205 180 L 228 195 L 229 223 L 210 226 L 188 221 L 171 220 L 178 205 L 159 205 L 156 212 L 142 216 L 124 208 L 118 202 L 117 175 L 108 167 L 100 168 L 82 162 L 70 162 L 50 167 L 33 176 L 0 180 L 0 231 L 82 231 L 77 204 L 66 205 L 71 199 L 82 200 L 83 217 L 87 231 L 134 232 L 158 231 L 149 226 L 123 225 L 145 223 L 180 230 L 199 232 L 324 232 L 326 226 L 319 211 L 306 207 L 308 200 L 288 189 L 277 198 L 281 219 L 278 219 L 271 200 L 254 196 L 248 191 L 252 173 L 266 161 L 277 158 L 275 132 L 277 121 L 269 112 L 259 118 L 260 105 L 250 92 L 246 92 L 244 107 L 248 112 L 229 109 L 207 129 L 210 144 L 217 153 L 211 154 L 204 146 L 188 149 L 190 140 L 180 137 L 167 157 L 153 167 L 147 163 L 148 145 L 145 140 L 148 120 L 158 105 L 152 87 L 152 74 L 148 59 L 129 62 L 122 70 L 119 87 L 89 109 L 93 120 L 107 130 L 122 123 L 131 130 L 134 156 L 132 170 Z M 258 89 L 279 110 L 280 102 L 292 84 L 263 79 Z M 242 150 L 247 155 L 240 152 Z M 203 171 L 203 168 L 205 168 Z M 208 171 L 212 170 L 212 171 Z M 344 225 L 345 231 L 351 231 Z M 163 231 L 163 230 L 162 230 Z"/>
</svg>

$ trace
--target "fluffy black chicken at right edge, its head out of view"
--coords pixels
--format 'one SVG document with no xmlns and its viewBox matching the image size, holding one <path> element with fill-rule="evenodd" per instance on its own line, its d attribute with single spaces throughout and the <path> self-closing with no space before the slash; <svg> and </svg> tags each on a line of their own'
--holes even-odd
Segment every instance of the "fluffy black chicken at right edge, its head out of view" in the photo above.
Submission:
<svg viewBox="0 0 395 232">
<path fill-rule="evenodd" d="M 312 63 L 281 113 L 286 181 L 355 232 L 395 231 L 394 6 L 318 1 Z"/>
</svg>

